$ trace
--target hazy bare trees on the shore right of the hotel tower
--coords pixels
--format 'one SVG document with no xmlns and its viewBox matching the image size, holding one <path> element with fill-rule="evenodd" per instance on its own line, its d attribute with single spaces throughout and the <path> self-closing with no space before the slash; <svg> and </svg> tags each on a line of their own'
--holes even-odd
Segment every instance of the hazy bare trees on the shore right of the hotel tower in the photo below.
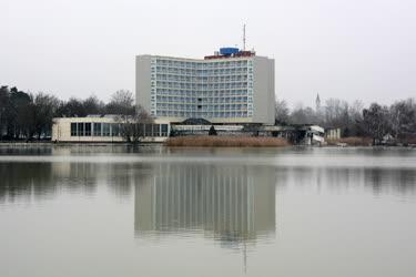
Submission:
<svg viewBox="0 0 416 277">
<path fill-rule="evenodd" d="M 318 124 L 325 129 L 341 129 L 342 136 L 368 136 L 373 143 L 390 136 L 397 142 L 416 141 L 416 101 L 407 99 L 390 105 L 376 102 L 365 106 L 363 102 L 348 103 L 328 99 L 315 109 L 297 105 L 288 109 L 284 100 L 276 101 L 276 124 Z"/>
</svg>

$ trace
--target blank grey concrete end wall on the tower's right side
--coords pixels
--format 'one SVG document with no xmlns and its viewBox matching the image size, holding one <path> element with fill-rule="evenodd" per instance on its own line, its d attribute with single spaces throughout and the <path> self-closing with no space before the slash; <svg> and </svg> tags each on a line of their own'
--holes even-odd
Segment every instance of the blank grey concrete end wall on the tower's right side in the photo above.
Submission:
<svg viewBox="0 0 416 277">
<path fill-rule="evenodd" d="M 254 57 L 253 73 L 253 122 L 274 124 L 274 60 Z"/>
</svg>

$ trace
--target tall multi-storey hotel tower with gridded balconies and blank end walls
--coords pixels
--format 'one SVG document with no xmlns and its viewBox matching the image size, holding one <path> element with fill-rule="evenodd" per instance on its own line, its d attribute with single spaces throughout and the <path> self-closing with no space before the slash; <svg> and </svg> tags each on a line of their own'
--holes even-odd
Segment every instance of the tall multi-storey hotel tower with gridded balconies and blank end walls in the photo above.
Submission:
<svg viewBox="0 0 416 277">
<path fill-rule="evenodd" d="M 274 60 L 136 57 L 136 102 L 170 122 L 274 124 Z"/>
</svg>

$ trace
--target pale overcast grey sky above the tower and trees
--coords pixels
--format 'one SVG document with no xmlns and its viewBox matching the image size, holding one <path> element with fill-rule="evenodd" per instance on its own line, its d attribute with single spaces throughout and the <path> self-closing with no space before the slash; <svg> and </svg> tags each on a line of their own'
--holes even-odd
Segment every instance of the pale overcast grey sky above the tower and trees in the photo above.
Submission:
<svg viewBox="0 0 416 277">
<path fill-rule="evenodd" d="M 242 44 L 275 59 L 291 104 L 416 96 L 415 0 L 0 0 L 0 84 L 108 100 L 134 92 L 134 57 L 202 58 Z"/>
</svg>

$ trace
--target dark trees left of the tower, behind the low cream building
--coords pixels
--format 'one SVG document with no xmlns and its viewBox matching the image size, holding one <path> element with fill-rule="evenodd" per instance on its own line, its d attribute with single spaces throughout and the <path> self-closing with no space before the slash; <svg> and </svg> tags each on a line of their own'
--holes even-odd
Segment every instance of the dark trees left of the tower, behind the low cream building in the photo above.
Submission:
<svg viewBox="0 0 416 277">
<path fill-rule="evenodd" d="M 89 114 L 134 116 L 133 94 L 125 90 L 116 91 L 108 103 L 94 95 L 64 101 L 43 92 L 32 94 L 17 88 L 0 86 L 0 141 L 47 138 L 51 135 L 53 117 Z"/>
</svg>

